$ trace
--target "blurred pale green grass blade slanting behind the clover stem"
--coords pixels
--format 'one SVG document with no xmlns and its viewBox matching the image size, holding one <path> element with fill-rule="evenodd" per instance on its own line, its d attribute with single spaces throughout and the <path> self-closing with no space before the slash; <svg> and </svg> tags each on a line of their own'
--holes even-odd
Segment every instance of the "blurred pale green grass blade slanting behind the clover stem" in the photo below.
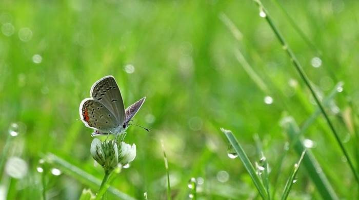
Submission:
<svg viewBox="0 0 359 200">
<path fill-rule="evenodd" d="M 62 159 L 52 153 L 47 153 L 47 155 L 45 156 L 45 161 L 51 165 L 58 167 L 59 169 L 62 169 L 64 171 L 64 173 L 75 178 L 77 181 L 81 182 L 82 184 L 84 184 L 88 187 L 96 189 L 101 185 L 101 181 L 99 179 L 97 179 L 96 177 L 83 171 L 82 169 L 79 169 L 78 167 L 68 163 L 64 159 Z M 128 194 L 125 194 L 113 187 L 108 188 L 108 192 L 114 194 L 115 196 L 117 196 L 118 198 L 121 198 L 121 199 L 128 199 L 128 200 L 135 199 L 135 198 L 129 196 Z"/>
</svg>

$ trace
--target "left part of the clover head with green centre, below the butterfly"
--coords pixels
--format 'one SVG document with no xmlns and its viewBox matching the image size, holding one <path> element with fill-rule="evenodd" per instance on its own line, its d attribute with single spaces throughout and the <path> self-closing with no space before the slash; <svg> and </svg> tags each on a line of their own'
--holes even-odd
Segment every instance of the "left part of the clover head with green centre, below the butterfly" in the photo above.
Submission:
<svg viewBox="0 0 359 200">
<path fill-rule="evenodd" d="M 113 170 L 118 164 L 117 144 L 113 139 L 101 142 L 94 138 L 91 143 L 91 155 L 105 171 Z"/>
</svg>

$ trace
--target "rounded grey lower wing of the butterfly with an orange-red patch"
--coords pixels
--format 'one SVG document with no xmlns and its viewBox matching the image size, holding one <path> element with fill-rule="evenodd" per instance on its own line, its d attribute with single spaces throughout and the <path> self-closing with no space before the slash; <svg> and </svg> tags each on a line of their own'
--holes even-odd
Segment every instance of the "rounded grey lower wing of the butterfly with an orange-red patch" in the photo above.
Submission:
<svg viewBox="0 0 359 200">
<path fill-rule="evenodd" d="M 92 129 L 109 133 L 117 127 L 116 117 L 104 106 L 91 98 L 85 98 L 79 107 L 80 117 L 84 124 Z"/>
</svg>

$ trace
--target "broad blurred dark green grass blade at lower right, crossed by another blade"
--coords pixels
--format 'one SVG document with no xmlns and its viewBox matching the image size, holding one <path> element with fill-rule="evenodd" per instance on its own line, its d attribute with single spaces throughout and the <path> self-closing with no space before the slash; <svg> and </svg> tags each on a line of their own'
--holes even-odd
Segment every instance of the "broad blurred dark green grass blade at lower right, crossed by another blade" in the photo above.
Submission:
<svg viewBox="0 0 359 200">
<path fill-rule="evenodd" d="M 296 135 L 300 132 L 294 119 L 290 116 L 287 116 L 282 119 L 282 126 L 285 128 L 290 140 L 295 138 Z M 303 137 L 300 137 L 294 144 L 294 150 L 299 155 L 305 149 L 306 148 L 303 144 Z M 333 187 L 328 181 L 328 178 L 323 173 L 323 169 L 316 161 L 314 155 L 310 150 L 307 150 L 306 154 L 304 155 L 303 165 L 306 168 L 306 171 L 312 182 L 314 183 L 315 187 L 317 188 L 317 191 L 320 193 L 323 199 L 338 199 Z"/>
</svg>

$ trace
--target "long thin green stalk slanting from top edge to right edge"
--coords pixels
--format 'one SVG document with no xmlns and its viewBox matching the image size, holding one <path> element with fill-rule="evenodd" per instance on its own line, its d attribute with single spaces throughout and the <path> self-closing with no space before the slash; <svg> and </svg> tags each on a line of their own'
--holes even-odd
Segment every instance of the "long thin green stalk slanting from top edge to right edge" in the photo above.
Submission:
<svg viewBox="0 0 359 200">
<path fill-rule="evenodd" d="M 289 45 L 287 44 L 287 42 L 285 41 L 284 37 L 282 36 L 282 34 L 279 32 L 279 30 L 276 28 L 276 26 L 273 24 L 271 17 L 269 16 L 268 12 L 266 11 L 266 9 L 263 7 L 262 2 L 260 0 L 253 0 L 254 2 L 257 3 L 258 7 L 260 8 L 260 11 L 262 13 L 262 16 L 266 19 L 266 21 L 268 22 L 269 26 L 271 27 L 271 29 L 273 30 L 275 36 L 277 37 L 277 39 L 280 41 L 280 43 L 283 46 L 283 49 L 287 52 L 288 56 L 290 57 L 296 71 L 300 74 L 301 78 L 303 79 L 304 83 L 307 85 L 307 87 L 309 88 L 316 104 L 318 105 L 318 107 L 320 108 L 320 110 L 322 111 L 324 118 L 326 119 L 329 128 L 331 129 L 332 133 L 334 134 L 334 137 L 336 139 L 336 142 L 338 143 L 338 145 L 340 146 L 342 152 L 344 153 L 344 156 L 346 157 L 349 167 L 356 179 L 356 182 L 359 183 L 359 175 L 356 173 L 354 165 L 349 157 L 348 152 L 346 151 L 339 135 L 337 134 L 333 124 L 331 123 L 329 116 L 327 114 L 327 112 L 324 110 L 324 107 L 321 103 L 321 101 L 319 100 L 319 98 L 317 97 L 316 93 L 314 92 L 313 87 L 310 84 L 309 78 L 306 75 L 306 73 L 304 72 L 304 70 L 302 69 L 301 64 L 297 61 L 294 53 L 292 52 L 292 50 L 290 49 Z"/>
</svg>

